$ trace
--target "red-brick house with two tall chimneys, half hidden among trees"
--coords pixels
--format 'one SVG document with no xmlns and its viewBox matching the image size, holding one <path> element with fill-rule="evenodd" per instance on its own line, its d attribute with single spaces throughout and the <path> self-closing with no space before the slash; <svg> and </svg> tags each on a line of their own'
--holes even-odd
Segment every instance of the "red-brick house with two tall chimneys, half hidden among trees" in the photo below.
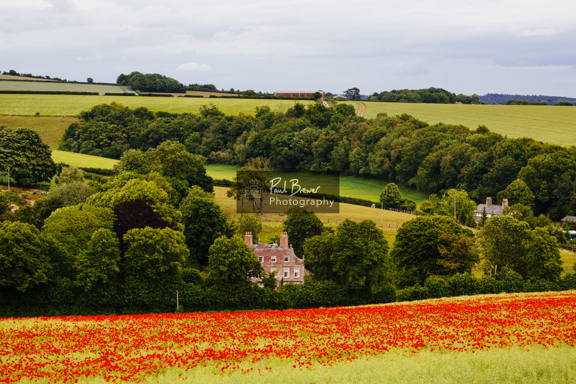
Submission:
<svg viewBox="0 0 576 384">
<path fill-rule="evenodd" d="M 304 269 L 303 259 L 296 256 L 294 248 L 288 245 L 288 233 L 282 232 L 280 234 L 280 244 L 276 242 L 272 244 L 258 244 L 252 243 L 252 233 L 247 232 L 244 235 L 244 242 L 250 247 L 254 256 L 262 264 L 267 272 L 277 271 L 276 279 L 278 279 L 278 288 L 282 283 L 304 283 L 304 273 L 308 273 Z M 257 277 L 252 278 L 253 282 L 259 282 Z"/>
</svg>

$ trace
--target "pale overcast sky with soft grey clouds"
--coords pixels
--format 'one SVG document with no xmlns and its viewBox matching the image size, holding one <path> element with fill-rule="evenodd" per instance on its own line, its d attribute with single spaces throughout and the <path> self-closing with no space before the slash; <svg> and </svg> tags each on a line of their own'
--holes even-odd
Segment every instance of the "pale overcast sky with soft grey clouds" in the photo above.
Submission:
<svg viewBox="0 0 576 384">
<path fill-rule="evenodd" d="M 0 0 L 0 70 L 576 97 L 574 0 Z"/>
</svg>

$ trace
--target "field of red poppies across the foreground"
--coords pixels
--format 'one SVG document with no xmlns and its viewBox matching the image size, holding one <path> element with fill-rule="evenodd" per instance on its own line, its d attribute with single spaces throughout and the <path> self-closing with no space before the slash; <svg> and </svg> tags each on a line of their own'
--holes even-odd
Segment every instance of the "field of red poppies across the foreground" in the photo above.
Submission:
<svg viewBox="0 0 576 384">
<path fill-rule="evenodd" d="M 309 310 L 6 318 L 0 382 L 574 382 L 575 343 L 574 291 Z"/>
</svg>

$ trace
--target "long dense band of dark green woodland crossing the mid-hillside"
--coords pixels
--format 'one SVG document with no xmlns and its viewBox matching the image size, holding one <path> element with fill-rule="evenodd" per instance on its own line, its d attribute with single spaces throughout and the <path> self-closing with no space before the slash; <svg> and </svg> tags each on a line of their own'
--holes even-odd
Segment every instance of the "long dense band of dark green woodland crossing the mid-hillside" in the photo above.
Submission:
<svg viewBox="0 0 576 384">
<path fill-rule="evenodd" d="M 198 115 L 97 105 L 71 124 L 60 149 L 120 158 L 174 140 L 208 162 L 244 165 L 266 157 L 275 169 L 373 177 L 425 193 L 464 190 L 500 203 L 520 179 L 535 213 L 576 214 L 576 148 L 509 139 L 480 126 L 430 125 L 403 114 L 355 116 L 351 105 L 295 102 L 286 113 L 257 107 L 255 116 L 225 115 L 205 105 Z"/>
</svg>

